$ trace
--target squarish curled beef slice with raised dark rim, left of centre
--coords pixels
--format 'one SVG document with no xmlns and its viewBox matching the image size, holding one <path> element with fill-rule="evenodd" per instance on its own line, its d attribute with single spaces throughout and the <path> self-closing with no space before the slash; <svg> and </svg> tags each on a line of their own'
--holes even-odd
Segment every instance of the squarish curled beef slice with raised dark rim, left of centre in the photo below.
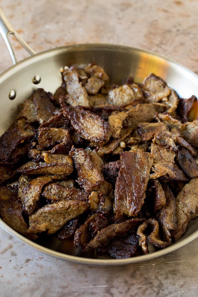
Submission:
<svg viewBox="0 0 198 297">
<path fill-rule="evenodd" d="M 51 149 L 51 154 L 68 154 L 71 147 L 72 140 L 68 130 L 47 127 L 38 129 L 38 149 Z"/>
</svg>

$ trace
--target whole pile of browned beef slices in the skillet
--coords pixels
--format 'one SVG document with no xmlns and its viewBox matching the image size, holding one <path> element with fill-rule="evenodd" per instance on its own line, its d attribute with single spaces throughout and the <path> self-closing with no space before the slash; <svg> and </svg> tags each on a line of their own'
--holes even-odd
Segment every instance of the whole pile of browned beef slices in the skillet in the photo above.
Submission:
<svg viewBox="0 0 198 297">
<path fill-rule="evenodd" d="M 31 240 L 73 238 L 114 258 L 170 246 L 198 216 L 197 98 L 154 74 L 109 85 L 95 63 L 62 77 L 0 138 L 2 219 Z"/>
</svg>

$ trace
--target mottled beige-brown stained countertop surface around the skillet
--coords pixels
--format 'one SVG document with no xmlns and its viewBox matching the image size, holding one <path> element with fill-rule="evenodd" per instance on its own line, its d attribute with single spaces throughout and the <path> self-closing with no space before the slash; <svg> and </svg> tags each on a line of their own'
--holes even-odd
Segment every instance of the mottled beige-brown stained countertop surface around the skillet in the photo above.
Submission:
<svg viewBox="0 0 198 297">
<path fill-rule="evenodd" d="M 40 52 L 114 43 L 167 56 L 198 74 L 198 1 L 0 0 L 20 36 Z M 18 61 L 28 56 L 11 37 Z M 12 65 L 0 37 L 0 73 Z M 0 295 L 197 296 L 198 238 L 126 266 L 83 266 L 45 255 L 0 230 Z"/>
</svg>

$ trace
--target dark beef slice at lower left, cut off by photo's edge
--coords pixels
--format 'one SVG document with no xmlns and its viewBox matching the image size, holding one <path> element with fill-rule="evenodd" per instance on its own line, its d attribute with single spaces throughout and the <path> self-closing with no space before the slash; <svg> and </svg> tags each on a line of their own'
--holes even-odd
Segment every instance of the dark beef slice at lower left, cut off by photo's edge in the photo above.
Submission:
<svg viewBox="0 0 198 297">
<path fill-rule="evenodd" d="M 34 240 L 37 235 L 28 233 L 28 224 L 23 219 L 22 207 L 17 194 L 18 188 L 16 186 L 0 187 L 1 217 L 11 228 Z"/>
</svg>

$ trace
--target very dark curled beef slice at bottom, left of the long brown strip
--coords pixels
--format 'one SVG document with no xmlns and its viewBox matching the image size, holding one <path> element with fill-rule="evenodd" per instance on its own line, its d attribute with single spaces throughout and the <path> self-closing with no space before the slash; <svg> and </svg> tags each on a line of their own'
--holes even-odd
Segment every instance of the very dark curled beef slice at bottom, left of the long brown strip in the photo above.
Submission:
<svg viewBox="0 0 198 297">
<path fill-rule="evenodd" d="M 91 239 L 98 233 L 102 228 L 109 225 L 109 221 L 103 214 L 93 214 L 88 217 L 84 224 L 82 224 L 75 232 L 74 245 L 75 247 L 85 248 Z"/>
</svg>

